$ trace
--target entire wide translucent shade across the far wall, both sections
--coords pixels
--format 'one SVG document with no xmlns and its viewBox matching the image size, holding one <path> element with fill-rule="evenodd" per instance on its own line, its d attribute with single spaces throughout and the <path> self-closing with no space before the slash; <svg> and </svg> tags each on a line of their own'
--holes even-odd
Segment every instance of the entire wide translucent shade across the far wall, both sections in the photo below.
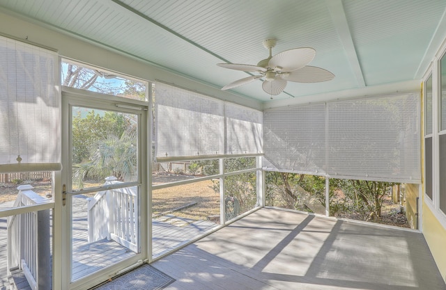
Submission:
<svg viewBox="0 0 446 290">
<path fill-rule="evenodd" d="M 266 110 L 267 170 L 419 183 L 420 94 Z"/>
</svg>

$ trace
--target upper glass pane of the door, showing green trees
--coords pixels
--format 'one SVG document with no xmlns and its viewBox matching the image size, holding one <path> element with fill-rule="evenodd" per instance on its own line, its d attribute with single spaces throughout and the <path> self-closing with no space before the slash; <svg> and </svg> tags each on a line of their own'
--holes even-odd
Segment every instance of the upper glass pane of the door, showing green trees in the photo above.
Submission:
<svg viewBox="0 0 446 290">
<path fill-rule="evenodd" d="M 72 189 L 104 184 L 105 177 L 134 182 L 137 115 L 72 107 Z"/>
</svg>

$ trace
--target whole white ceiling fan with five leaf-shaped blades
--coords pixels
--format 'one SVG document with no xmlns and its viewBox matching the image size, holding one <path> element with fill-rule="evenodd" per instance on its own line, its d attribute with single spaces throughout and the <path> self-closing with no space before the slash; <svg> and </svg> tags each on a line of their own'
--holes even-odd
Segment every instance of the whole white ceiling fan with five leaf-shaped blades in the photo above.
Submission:
<svg viewBox="0 0 446 290">
<path fill-rule="evenodd" d="M 275 47 L 276 40 L 268 39 L 263 41 L 263 46 L 269 49 L 270 56 L 259 61 L 257 65 L 241 65 L 237 63 L 217 63 L 218 66 L 231 70 L 241 70 L 243 72 L 256 72 L 259 75 L 248 76 L 244 79 L 233 81 L 224 86 L 222 90 L 236 88 L 251 83 L 256 79 L 262 79 L 262 88 L 269 95 L 279 95 L 286 87 L 286 81 L 296 83 L 317 83 L 330 81 L 334 74 L 321 67 L 307 65 L 316 55 L 316 50 L 311 47 L 300 47 L 282 51 L 275 56 L 271 55 L 272 47 Z"/>
</svg>

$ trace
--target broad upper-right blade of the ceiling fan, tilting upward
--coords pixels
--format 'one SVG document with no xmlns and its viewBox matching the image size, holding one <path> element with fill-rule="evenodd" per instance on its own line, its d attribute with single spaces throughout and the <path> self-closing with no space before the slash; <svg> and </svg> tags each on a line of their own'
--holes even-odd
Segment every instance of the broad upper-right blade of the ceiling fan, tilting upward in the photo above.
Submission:
<svg viewBox="0 0 446 290">
<path fill-rule="evenodd" d="M 316 51 L 311 47 L 290 49 L 272 56 L 268 66 L 273 70 L 291 72 L 309 64 L 315 55 Z"/>
</svg>

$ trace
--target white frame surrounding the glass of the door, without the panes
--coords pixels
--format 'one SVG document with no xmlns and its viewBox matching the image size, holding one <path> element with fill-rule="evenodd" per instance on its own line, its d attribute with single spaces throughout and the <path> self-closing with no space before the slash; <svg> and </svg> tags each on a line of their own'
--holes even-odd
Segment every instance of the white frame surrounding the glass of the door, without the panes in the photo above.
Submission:
<svg viewBox="0 0 446 290">
<path fill-rule="evenodd" d="M 125 259 L 118 264 L 104 268 L 93 275 L 81 280 L 71 282 L 71 196 L 63 195 L 62 184 L 66 184 L 66 191 L 70 191 L 71 178 L 71 120 L 72 106 L 85 106 L 87 108 L 98 108 L 109 111 L 119 111 L 139 115 L 138 124 L 138 175 L 139 188 L 141 193 L 148 192 L 148 102 L 141 102 L 133 99 L 102 95 L 86 90 L 64 88 L 62 92 L 62 172 L 56 174 L 56 178 L 61 181 L 59 186 L 55 186 L 56 194 L 54 198 L 54 234 L 53 234 L 53 289 L 71 290 L 86 289 L 95 284 L 105 281 L 116 275 L 125 268 L 131 268 L 141 264 L 148 257 L 148 218 L 147 218 L 147 194 L 139 194 L 140 214 L 139 214 L 139 236 L 140 252 Z M 66 199 L 66 205 L 63 205 Z"/>
</svg>

